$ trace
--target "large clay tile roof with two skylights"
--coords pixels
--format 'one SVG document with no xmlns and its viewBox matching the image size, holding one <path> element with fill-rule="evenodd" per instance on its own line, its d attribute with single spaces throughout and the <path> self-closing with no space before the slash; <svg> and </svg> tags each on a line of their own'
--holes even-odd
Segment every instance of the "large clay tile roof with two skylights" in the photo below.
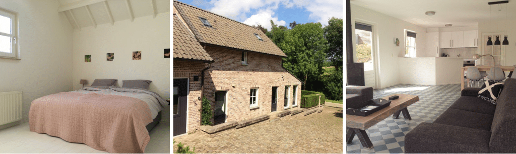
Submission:
<svg viewBox="0 0 516 154">
<path fill-rule="evenodd" d="M 174 7 L 177 8 L 179 14 L 201 44 L 286 57 L 286 54 L 258 28 L 178 1 L 174 1 Z M 204 25 L 200 17 L 205 18 L 212 26 Z M 259 40 L 255 34 L 258 34 L 263 41 Z"/>
</svg>

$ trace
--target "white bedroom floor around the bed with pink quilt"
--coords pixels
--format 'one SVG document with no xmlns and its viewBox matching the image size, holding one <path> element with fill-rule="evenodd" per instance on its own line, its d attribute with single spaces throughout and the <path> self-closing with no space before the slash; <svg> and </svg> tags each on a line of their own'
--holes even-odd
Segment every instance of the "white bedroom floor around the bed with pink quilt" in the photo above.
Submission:
<svg viewBox="0 0 516 154">
<path fill-rule="evenodd" d="M 145 153 L 170 153 L 170 123 L 160 122 L 149 133 Z M 70 143 L 29 130 L 28 123 L 0 130 L 0 153 L 108 153 L 86 144 Z"/>
</svg>

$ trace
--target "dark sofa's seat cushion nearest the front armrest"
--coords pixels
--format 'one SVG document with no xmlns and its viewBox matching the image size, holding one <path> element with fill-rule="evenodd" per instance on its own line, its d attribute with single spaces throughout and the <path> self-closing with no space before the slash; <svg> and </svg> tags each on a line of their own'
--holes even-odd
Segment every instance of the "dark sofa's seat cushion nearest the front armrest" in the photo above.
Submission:
<svg viewBox="0 0 516 154">
<path fill-rule="evenodd" d="M 433 123 L 490 131 L 493 115 L 448 108 Z"/>
</svg>

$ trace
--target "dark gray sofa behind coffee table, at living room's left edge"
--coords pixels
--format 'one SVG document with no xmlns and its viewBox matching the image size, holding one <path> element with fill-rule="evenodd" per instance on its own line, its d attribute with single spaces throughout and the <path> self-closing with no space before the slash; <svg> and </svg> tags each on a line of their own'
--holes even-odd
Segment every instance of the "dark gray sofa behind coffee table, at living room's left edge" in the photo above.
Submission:
<svg viewBox="0 0 516 154">
<path fill-rule="evenodd" d="M 373 99 L 373 87 L 346 86 L 346 106 L 351 107 Z"/>
</svg>

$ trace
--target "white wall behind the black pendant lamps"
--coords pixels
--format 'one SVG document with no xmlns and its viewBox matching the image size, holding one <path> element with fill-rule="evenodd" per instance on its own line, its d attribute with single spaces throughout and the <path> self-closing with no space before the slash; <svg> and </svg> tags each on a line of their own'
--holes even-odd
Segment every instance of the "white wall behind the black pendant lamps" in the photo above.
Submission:
<svg viewBox="0 0 516 154">
<path fill-rule="evenodd" d="M 499 24 L 497 24 L 499 22 Z M 507 25 L 506 25 L 507 23 Z M 505 57 L 504 63 L 502 65 L 512 66 L 516 64 L 516 29 L 514 26 L 516 25 L 516 20 L 508 19 L 506 20 L 492 20 L 478 23 L 478 54 L 481 54 L 482 45 L 485 45 L 486 42 L 482 42 L 482 33 L 490 33 L 490 32 L 505 32 L 505 35 L 508 35 L 507 40 L 509 41 L 509 45 L 504 45 L 505 48 Z M 507 26 L 507 28 L 505 28 Z M 503 39 L 503 37 L 502 37 Z M 503 40 L 501 40 L 503 41 Z M 494 41 L 493 41 L 494 42 Z M 503 49 L 503 48 L 502 48 Z"/>
</svg>

